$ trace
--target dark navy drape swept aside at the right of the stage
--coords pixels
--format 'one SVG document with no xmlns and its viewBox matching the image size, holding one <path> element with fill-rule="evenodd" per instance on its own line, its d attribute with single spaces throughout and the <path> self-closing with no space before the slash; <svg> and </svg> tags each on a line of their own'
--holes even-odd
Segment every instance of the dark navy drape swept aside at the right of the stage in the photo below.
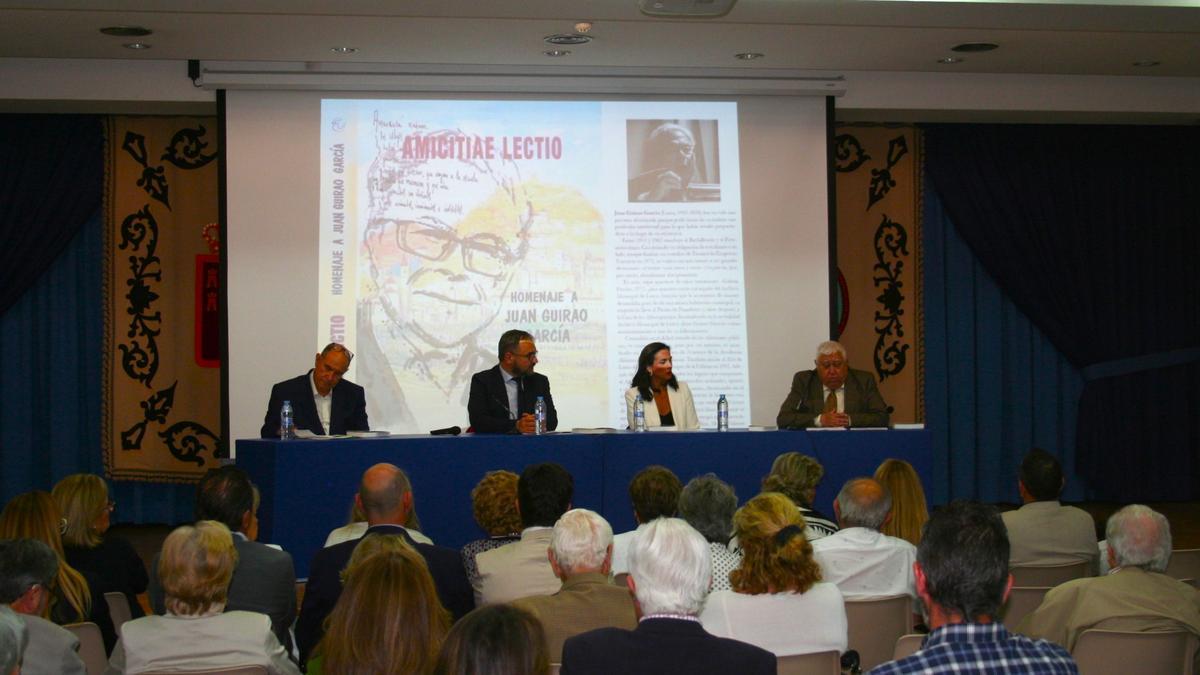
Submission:
<svg viewBox="0 0 1200 675">
<path fill-rule="evenodd" d="M 1200 496 L 1200 129 L 930 125 L 925 141 L 980 265 L 1085 376 L 1075 453 L 1094 496 Z"/>
</svg>

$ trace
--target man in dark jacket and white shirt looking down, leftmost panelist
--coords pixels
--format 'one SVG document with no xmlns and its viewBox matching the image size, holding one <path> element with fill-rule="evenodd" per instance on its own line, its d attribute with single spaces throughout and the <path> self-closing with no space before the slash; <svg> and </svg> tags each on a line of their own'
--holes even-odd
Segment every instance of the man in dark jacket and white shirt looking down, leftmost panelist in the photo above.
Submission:
<svg viewBox="0 0 1200 675">
<path fill-rule="evenodd" d="M 362 387 L 342 380 L 354 354 L 330 342 L 317 354 L 307 375 L 284 380 L 271 387 L 271 400 L 263 418 L 263 438 L 280 437 L 280 408 L 292 401 L 296 429 L 307 429 L 318 436 L 366 431 L 367 399 Z"/>
</svg>

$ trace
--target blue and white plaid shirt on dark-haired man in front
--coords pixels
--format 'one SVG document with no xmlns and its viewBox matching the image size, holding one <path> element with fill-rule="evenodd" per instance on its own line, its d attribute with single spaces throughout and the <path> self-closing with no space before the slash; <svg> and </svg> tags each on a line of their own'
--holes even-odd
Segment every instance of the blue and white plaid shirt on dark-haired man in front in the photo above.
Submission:
<svg viewBox="0 0 1200 675">
<path fill-rule="evenodd" d="M 1063 647 L 1010 634 L 1002 623 L 949 623 L 925 638 L 907 658 L 881 664 L 872 675 L 904 673 L 1078 674 Z"/>
</svg>

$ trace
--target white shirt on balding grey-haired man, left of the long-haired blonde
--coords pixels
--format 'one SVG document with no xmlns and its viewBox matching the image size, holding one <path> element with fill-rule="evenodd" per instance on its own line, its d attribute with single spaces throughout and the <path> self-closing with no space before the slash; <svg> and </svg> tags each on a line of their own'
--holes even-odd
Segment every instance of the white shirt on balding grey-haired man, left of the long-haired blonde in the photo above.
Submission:
<svg viewBox="0 0 1200 675">
<path fill-rule="evenodd" d="M 866 527 L 847 527 L 812 542 L 821 578 L 847 598 L 908 593 L 917 597 L 912 563 L 917 546 Z"/>
</svg>

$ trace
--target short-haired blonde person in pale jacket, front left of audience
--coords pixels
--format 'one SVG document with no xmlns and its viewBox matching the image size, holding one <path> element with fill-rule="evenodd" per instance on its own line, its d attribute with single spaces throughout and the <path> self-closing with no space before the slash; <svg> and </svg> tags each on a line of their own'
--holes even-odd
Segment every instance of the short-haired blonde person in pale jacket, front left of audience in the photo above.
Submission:
<svg viewBox="0 0 1200 675">
<path fill-rule="evenodd" d="M 156 566 L 167 614 L 125 623 L 108 673 L 263 665 L 276 675 L 298 675 L 270 617 L 224 610 L 236 565 L 233 536 L 221 522 L 202 520 L 168 534 Z"/>
</svg>

